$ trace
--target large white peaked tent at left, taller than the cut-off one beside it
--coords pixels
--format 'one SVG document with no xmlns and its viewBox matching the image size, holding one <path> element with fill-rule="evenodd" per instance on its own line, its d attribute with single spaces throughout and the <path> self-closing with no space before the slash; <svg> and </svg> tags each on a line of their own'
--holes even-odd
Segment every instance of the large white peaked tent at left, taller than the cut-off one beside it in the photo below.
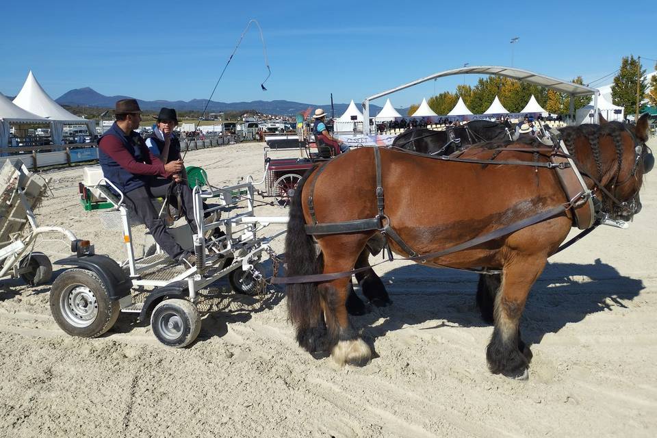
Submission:
<svg viewBox="0 0 657 438">
<path fill-rule="evenodd" d="M 91 136 L 96 133 L 96 123 L 93 120 L 81 118 L 64 110 L 60 104 L 53 101 L 51 97 L 40 86 L 31 70 L 23 88 L 18 92 L 14 103 L 23 110 L 27 110 L 51 121 L 51 135 L 53 144 L 61 144 L 64 125 L 87 125 Z"/>
</svg>

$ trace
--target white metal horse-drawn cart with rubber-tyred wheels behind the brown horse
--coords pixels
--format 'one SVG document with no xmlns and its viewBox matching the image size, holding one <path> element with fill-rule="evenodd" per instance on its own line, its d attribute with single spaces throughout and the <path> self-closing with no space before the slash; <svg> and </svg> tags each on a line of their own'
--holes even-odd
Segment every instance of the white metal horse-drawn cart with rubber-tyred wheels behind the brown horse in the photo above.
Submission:
<svg viewBox="0 0 657 438">
<path fill-rule="evenodd" d="M 62 330 L 79 337 L 102 335 L 114 325 L 119 313 L 125 312 L 136 314 L 140 321 L 150 318 L 153 334 L 162 344 L 188 346 L 201 330 L 198 291 L 228 276 L 235 292 L 257 294 L 264 285 L 259 261 L 275 257 L 271 242 L 285 230 L 270 236 L 261 233 L 270 224 L 287 223 L 287 216 L 255 216 L 250 177 L 245 183 L 223 188 L 206 180 L 205 185 L 192 189 L 197 228 L 192 231 L 186 222 L 168 227 L 177 242 L 196 255 L 196 266 L 181 266 L 159 247 L 152 254 L 136 255 L 132 227 L 140 221 L 99 166 L 85 170 L 80 192 L 83 203 L 108 204 L 109 208 L 90 210 L 97 210 L 105 229 L 117 231 L 127 259 L 118 263 L 91 253 L 57 261 L 73 268 L 62 272 L 53 283 L 51 312 Z M 203 201 L 215 205 L 205 208 Z M 161 214 L 163 210 L 159 210 Z"/>
</svg>

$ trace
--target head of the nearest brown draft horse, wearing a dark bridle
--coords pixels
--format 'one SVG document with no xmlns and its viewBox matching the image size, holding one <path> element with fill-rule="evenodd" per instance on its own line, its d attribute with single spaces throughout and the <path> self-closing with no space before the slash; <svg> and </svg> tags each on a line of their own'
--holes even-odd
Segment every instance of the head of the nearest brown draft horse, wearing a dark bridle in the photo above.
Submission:
<svg viewBox="0 0 657 438">
<path fill-rule="evenodd" d="M 623 162 L 617 181 L 612 185 L 612 194 L 617 201 L 609 214 L 621 220 L 630 220 L 641 211 L 639 190 L 643 184 L 643 175 L 652 170 L 655 158 L 647 146 L 648 114 L 643 114 L 636 126 L 626 126 L 627 135 L 623 136 Z"/>
</svg>

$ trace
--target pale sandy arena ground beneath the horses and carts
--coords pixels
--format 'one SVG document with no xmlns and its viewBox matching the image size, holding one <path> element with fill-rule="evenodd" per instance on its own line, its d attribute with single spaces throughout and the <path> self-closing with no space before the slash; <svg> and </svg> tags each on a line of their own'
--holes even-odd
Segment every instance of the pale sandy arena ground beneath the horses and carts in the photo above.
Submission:
<svg viewBox="0 0 657 438">
<path fill-rule="evenodd" d="M 652 141 L 657 150 L 657 142 Z M 261 177 L 259 144 L 190 152 L 215 185 Z M 49 173 L 41 224 L 123 260 L 118 232 L 81 209 L 81 169 Z M 189 348 L 157 342 L 122 314 L 99 339 L 63 333 L 49 286 L 0 288 L 1 437 L 537 437 L 657 433 L 657 188 L 629 230 L 602 227 L 550 260 L 522 328 L 530 380 L 491 375 L 492 328 L 474 306 L 476 276 L 404 261 L 376 268 L 394 300 L 354 318 L 378 357 L 343 369 L 294 342 L 282 289 L 203 291 Z M 279 216 L 279 207 L 258 207 Z M 136 240 L 143 229 L 135 231 Z M 53 253 L 57 242 L 44 242 Z M 65 253 L 60 246 L 60 253 Z M 61 270 L 59 271 L 61 272 Z M 55 272 L 57 274 L 57 272 Z"/>
</svg>

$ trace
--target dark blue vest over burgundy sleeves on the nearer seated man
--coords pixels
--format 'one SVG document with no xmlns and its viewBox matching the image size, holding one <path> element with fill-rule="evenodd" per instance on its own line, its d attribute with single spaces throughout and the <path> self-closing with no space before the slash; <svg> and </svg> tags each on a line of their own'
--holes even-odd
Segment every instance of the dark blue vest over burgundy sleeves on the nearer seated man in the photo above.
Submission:
<svg viewBox="0 0 657 438">
<path fill-rule="evenodd" d="M 140 137 L 138 133 L 132 131 L 130 137 L 126 137 L 125 133 L 116 125 L 107 130 L 99 140 L 99 144 L 103 141 L 103 138 L 107 136 L 114 136 L 120 140 L 123 144 L 123 147 L 132 155 L 137 162 L 151 164 L 151 159 L 149 157 L 149 150 L 144 144 L 144 140 Z M 121 167 L 117 162 L 103 152 L 101 148 L 98 149 L 98 161 L 101 164 L 103 169 L 103 175 L 105 178 L 112 181 L 116 187 L 118 187 L 123 193 L 130 192 L 146 185 L 146 181 L 149 181 L 149 175 L 134 175 L 123 167 Z"/>
</svg>

